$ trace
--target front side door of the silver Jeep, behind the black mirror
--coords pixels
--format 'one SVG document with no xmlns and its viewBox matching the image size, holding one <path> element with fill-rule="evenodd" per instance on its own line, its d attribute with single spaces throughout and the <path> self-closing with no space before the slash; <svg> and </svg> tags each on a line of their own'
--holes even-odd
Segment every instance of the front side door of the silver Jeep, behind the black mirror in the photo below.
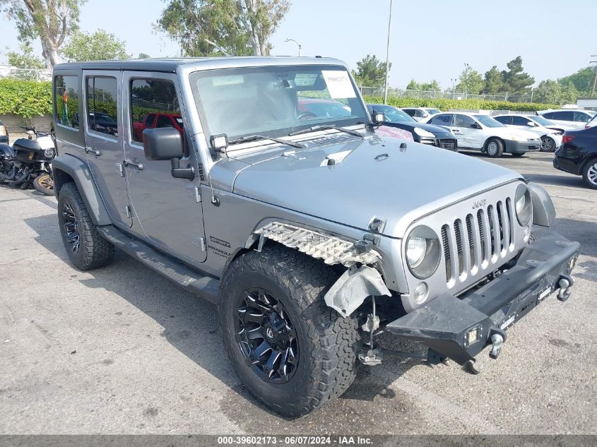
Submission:
<svg viewBox="0 0 597 447">
<path fill-rule="evenodd" d="M 124 165 L 126 183 L 134 215 L 142 232 L 158 247 L 191 261 L 203 262 L 207 257 L 199 178 L 189 182 L 170 174 L 170 161 L 149 161 L 143 153 L 142 134 L 134 129 L 148 112 L 156 117 L 153 126 L 172 125 L 182 136 L 185 157 L 182 167 L 191 165 L 199 172 L 199 164 L 185 132 L 184 110 L 180 107 L 178 80 L 174 74 L 124 72 L 122 90 L 126 126 L 124 127 Z M 143 121 L 146 122 L 146 121 Z"/>
</svg>

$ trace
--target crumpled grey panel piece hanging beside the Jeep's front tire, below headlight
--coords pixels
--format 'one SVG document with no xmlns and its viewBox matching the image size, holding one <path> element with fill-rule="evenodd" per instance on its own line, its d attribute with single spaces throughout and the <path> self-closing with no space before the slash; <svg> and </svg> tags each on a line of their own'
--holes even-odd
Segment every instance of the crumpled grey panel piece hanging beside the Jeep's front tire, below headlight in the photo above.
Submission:
<svg viewBox="0 0 597 447">
<path fill-rule="evenodd" d="M 365 298 L 372 295 L 391 297 L 382 275 L 371 267 L 353 266 L 330 287 L 324 299 L 328 306 L 336 309 L 342 316 L 349 316 L 358 309 Z"/>
</svg>

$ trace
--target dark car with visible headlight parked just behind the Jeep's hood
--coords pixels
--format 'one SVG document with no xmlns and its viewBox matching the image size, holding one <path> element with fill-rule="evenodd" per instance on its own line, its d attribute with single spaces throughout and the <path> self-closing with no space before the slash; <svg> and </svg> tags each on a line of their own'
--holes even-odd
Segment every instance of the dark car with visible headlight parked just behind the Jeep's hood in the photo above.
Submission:
<svg viewBox="0 0 597 447">
<path fill-rule="evenodd" d="M 458 151 L 458 141 L 453 133 L 443 127 L 423 124 L 409 117 L 406 112 L 391 105 L 367 104 L 371 115 L 384 114 L 384 126 L 397 127 L 413 134 L 417 143 L 429 144 L 442 149 Z"/>
</svg>

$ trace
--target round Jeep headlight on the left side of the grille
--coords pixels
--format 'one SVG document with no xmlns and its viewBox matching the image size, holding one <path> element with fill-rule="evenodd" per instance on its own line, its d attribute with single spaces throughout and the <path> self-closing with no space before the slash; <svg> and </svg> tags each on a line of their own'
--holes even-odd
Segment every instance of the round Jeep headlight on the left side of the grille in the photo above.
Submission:
<svg viewBox="0 0 597 447">
<path fill-rule="evenodd" d="M 406 238 L 406 265 L 416 278 L 429 278 L 439 265 L 442 251 L 435 231 L 425 225 L 415 227 Z"/>
</svg>

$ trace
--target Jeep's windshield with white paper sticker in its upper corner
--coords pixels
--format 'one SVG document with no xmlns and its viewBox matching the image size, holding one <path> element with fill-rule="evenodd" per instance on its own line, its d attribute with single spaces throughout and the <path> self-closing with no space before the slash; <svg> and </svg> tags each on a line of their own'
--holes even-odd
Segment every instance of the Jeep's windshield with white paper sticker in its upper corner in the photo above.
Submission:
<svg viewBox="0 0 597 447">
<path fill-rule="evenodd" d="M 280 137 L 313 126 L 370 122 L 343 66 L 226 68 L 190 79 L 208 136 Z"/>
</svg>

